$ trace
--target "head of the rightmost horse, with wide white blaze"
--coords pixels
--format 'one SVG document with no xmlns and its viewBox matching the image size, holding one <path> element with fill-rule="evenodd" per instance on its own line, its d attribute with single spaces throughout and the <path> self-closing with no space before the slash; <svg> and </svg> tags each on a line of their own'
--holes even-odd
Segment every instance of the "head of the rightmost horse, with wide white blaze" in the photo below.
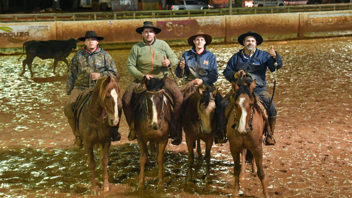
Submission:
<svg viewBox="0 0 352 198">
<path fill-rule="evenodd" d="M 249 85 L 248 85 L 249 84 Z M 235 123 L 233 127 L 237 127 L 240 134 L 247 134 L 252 130 L 252 119 L 254 114 L 254 97 L 253 90 L 256 87 L 256 80 L 249 82 L 242 79 L 242 74 L 237 82 L 231 83 L 233 95 L 231 102 L 235 109 Z"/>
</svg>

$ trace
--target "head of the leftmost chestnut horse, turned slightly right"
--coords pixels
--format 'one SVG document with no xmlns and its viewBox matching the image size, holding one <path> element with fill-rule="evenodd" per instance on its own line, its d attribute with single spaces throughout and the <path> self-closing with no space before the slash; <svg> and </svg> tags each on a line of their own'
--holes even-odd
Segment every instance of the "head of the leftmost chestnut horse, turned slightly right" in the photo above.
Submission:
<svg viewBox="0 0 352 198">
<path fill-rule="evenodd" d="M 94 89 L 99 89 L 98 102 L 103 109 L 98 117 L 104 122 L 108 119 L 110 126 L 116 126 L 120 121 L 119 111 L 122 109 L 121 90 L 118 84 L 121 75 L 117 78 L 110 76 L 98 79 Z M 120 115 L 121 116 L 121 115 Z"/>
</svg>

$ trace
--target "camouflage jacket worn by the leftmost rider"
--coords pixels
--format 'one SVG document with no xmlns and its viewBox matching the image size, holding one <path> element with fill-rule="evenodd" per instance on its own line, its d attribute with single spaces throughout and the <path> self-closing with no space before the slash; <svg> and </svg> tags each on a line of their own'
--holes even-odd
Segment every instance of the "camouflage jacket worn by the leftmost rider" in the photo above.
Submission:
<svg viewBox="0 0 352 198">
<path fill-rule="evenodd" d="M 74 88 L 88 89 L 90 73 L 99 73 L 100 77 L 116 77 L 117 70 L 112 57 L 100 47 L 92 53 L 82 49 L 73 56 L 67 69 L 67 95 Z M 90 80 L 90 87 L 94 85 L 94 80 Z"/>
</svg>

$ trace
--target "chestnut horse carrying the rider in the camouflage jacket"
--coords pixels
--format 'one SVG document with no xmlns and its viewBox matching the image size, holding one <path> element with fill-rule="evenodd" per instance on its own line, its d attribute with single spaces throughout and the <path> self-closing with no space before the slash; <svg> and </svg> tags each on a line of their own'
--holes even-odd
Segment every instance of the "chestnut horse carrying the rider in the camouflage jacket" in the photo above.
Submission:
<svg viewBox="0 0 352 198">
<path fill-rule="evenodd" d="M 103 169 L 103 190 L 110 190 L 108 175 L 108 151 L 114 130 L 118 130 L 122 100 L 118 84 L 121 75 L 116 79 L 110 76 L 97 80 L 90 98 L 85 102 L 78 119 L 78 129 L 88 154 L 88 166 L 91 171 L 90 193 L 96 195 L 99 187 L 95 179 L 95 160 L 93 147 L 100 145 L 101 167 Z"/>
</svg>

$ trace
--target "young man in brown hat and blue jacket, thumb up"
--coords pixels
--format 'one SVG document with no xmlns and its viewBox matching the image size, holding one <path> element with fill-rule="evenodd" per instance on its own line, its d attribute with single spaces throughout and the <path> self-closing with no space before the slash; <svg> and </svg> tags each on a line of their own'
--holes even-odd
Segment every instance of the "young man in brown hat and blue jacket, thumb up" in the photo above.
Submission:
<svg viewBox="0 0 352 198">
<path fill-rule="evenodd" d="M 192 49 L 183 53 L 180 62 L 176 67 L 176 76 L 178 78 L 184 78 L 185 83 L 194 83 L 195 87 L 206 83 L 212 87 L 212 91 L 215 90 L 214 82 L 218 80 L 218 64 L 216 57 L 213 53 L 206 49 L 212 41 L 212 37 L 203 32 L 197 32 L 197 34 L 188 38 L 188 44 L 192 46 Z M 192 81 L 192 82 L 191 82 Z M 184 97 L 185 94 L 184 94 Z M 216 119 L 218 130 L 214 134 L 215 139 L 223 139 L 223 108 L 221 106 L 222 96 L 219 92 L 214 96 L 216 103 Z M 184 101 L 187 99 L 184 99 Z M 220 143 L 219 141 L 216 141 Z"/>
</svg>

